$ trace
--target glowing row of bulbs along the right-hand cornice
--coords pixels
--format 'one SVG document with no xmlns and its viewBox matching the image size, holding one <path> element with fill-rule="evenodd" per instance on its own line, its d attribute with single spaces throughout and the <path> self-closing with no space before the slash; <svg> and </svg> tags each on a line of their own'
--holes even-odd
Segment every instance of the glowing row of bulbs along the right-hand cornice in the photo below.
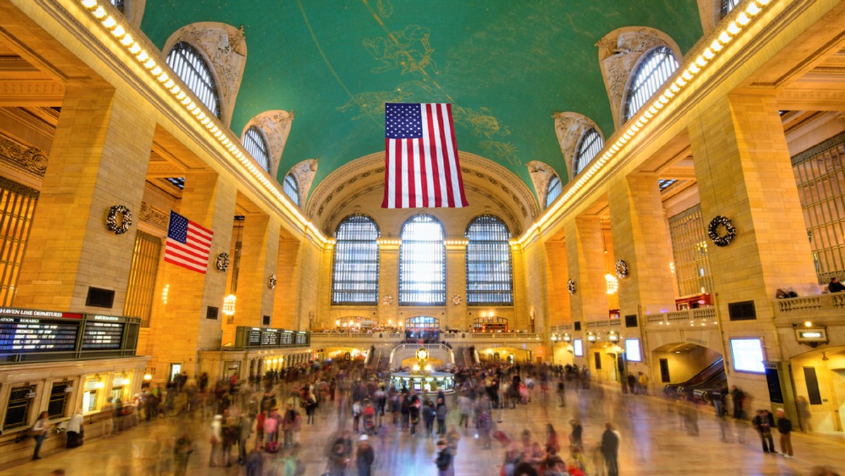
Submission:
<svg viewBox="0 0 845 476">
<path fill-rule="evenodd" d="M 719 33 L 717 39 L 714 40 L 709 47 L 706 47 L 704 51 L 701 52 L 700 56 L 695 57 L 695 59 L 690 58 L 686 61 L 686 68 L 684 68 L 683 72 L 679 74 L 678 78 L 676 78 L 671 85 L 668 85 L 666 89 L 662 91 L 660 96 L 657 96 L 657 101 L 655 101 L 645 112 L 642 112 L 640 118 L 636 120 L 634 125 L 625 131 L 624 134 L 619 135 L 616 142 L 613 144 L 606 144 L 606 150 L 602 155 L 602 158 L 599 161 L 594 162 L 593 167 L 590 167 L 590 169 L 586 173 L 582 174 L 581 177 L 578 178 L 578 180 L 576 180 L 575 183 L 566 190 L 566 192 L 564 192 L 564 194 L 558 197 L 558 199 L 554 201 L 554 204 L 546 209 L 546 212 L 543 213 L 540 219 L 536 223 L 533 223 L 531 227 L 528 227 L 525 233 L 522 233 L 522 236 L 519 239 L 511 240 L 511 246 L 519 247 L 523 243 L 526 243 L 526 241 L 532 237 L 533 233 L 539 231 L 540 227 L 551 220 L 552 216 L 554 216 L 564 206 L 564 203 L 566 203 L 567 200 L 570 200 L 570 198 L 572 198 L 572 196 L 584 186 L 586 181 L 604 166 L 605 162 L 612 159 L 613 156 L 616 156 L 617 153 L 619 153 L 619 150 L 621 150 L 629 140 L 633 140 L 636 137 L 637 132 L 647 123 L 651 122 L 651 119 L 657 115 L 657 112 L 659 112 L 663 106 L 672 101 L 674 96 L 677 96 L 681 90 L 684 90 L 687 83 L 701 73 L 701 68 L 706 68 L 707 64 L 711 63 L 715 57 L 721 54 L 724 47 L 728 46 L 728 43 L 733 41 L 733 37 L 739 35 L 740 31 L 750 25 L 751 19 L 767 8 L 771 1 L 772 0 L 751 0 L 744 11 L 739 8 L 735 9 L 734 12 L 737 13 L 733 13 L 731 16 L 735 16 L 736 19 L 733 19 L 724 27 L 724 30 Z"/>
</svg>

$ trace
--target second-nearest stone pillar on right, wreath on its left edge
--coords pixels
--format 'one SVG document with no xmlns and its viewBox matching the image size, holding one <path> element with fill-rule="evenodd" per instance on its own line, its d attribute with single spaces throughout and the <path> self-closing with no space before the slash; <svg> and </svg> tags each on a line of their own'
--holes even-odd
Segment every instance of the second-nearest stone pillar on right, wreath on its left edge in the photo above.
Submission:
<svg viewBox="0 0 845 476">
<path fill-rule="evenodd" d="M 666 247 L 669 231 L 657 176 L 619 178 L 608 200 L 613 263 L 624 260 L 629 269 L 628 277 L 619 278 L 619 314 L 638 314 L 638 306 L 643 315 L 674 310 L 672 250 Z"/>
</svg>

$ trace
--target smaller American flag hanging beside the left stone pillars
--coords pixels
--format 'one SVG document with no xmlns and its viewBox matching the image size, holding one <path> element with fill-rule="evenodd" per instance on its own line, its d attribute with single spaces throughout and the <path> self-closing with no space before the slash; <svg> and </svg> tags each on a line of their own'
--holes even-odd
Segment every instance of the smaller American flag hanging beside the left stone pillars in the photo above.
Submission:
<svg viewBox="0 0 845 476">
<path fill-rule="evenodd" d="M 211 230 L 200 227 L 175 211 L 170 211 L 164 260 L 205 274 L 213 236 L 214 232 Z"/>
</svg>

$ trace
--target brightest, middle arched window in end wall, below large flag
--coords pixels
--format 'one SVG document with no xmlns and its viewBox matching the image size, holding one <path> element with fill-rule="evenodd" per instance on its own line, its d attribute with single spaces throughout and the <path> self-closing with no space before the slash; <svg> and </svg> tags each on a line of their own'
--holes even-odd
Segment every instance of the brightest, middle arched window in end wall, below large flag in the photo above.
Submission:
<svg viewBox="0 0 845 476">
<path fill-rule="evenodd" d="M 399 305 L 446 304 L 446 243 L 443 225 L 431 215 L 402 225 L 399 246 Z"/>
</svg>

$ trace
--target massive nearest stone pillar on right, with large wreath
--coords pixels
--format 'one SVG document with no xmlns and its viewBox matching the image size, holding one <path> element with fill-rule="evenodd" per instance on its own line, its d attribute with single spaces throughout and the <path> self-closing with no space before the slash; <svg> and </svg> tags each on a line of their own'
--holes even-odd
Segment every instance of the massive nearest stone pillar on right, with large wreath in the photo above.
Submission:
<svg viewBox="0 0 845 476">
<path fill-rule="evenodd" d="M 689 131 L 704 222 L 726 216 L 737 233 L 728 246 L 707 243 L 722 345 L 727 350 L 731 337 L 761 336 L 764 358 L 780 360 L 775 290 L 805 295 L 819 288 L 777 99 L 766 92 L 720 98 L 701 107 Z M 745 301 L 754 303 L 755 320 L 730 320 L 728 304 Z M 766 379 L 732 373 L 732 360 L 728 350 L 731 383 L 766 400 Z"/>
</svg>

